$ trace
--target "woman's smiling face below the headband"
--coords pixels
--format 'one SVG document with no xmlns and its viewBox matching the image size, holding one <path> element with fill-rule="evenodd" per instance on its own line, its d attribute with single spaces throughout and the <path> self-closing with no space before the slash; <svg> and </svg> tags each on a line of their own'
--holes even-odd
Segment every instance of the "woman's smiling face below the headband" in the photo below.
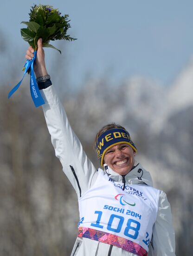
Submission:
<svg viewBox="0 0 193 256">
<path fill-rule="evenodd" d="M 104 155 L 104 162 L 116 173 L 126 175 L 133 168 L 136 152 L 126 143 L 112 146 Z"/>
</svg>

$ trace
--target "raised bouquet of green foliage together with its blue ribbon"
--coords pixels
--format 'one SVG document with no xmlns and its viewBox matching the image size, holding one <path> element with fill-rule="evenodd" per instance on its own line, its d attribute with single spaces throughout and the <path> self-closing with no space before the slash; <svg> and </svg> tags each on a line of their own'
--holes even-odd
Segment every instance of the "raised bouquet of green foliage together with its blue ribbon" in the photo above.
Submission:
<svg viewBox="0 0 193 256">
<path fill-rule="evenodd" d="M 22 21 L 27 25 L 27 28 L 21 29 L 22 38 L 27 41 L 35 50 L 34 57 L 32 60 L 27 60 L 23 67 L 23 78 L 19 81 L 16 86 L 9 92 L 8 98 L 10 98 L 19 88 L 21 82 L 24 79 L 26 73 L 30 74 L 30 91 L 32 100 L 36 107 L 39 107 L 45 104 L 44 99 L 42 98 L 39 88 L 36 82 L 33 63 L 36 59 L 37 49 L 38 49 L 38 40 L 42 38 L 43 47 L 51 47 L 58 50 L 56 47 L 49 44 L 50 40 L 76 40 L 75 38 L 70 37 L 70 35 L 66 34 L 67 30 L 70 26 L 68 14 L 64 16 L 58 11 L 58 9 L 54 9 L 50 5 L 34 5 L 30 10 L 30 20 Z M 58 50 L 61 54 L 61 51 Z"/>
</svg>

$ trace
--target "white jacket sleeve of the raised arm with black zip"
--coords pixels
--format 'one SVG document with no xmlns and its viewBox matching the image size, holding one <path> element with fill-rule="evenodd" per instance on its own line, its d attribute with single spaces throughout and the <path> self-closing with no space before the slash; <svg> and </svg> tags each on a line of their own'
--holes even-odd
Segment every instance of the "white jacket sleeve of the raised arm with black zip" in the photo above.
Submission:
<svg viewBox="0 0 193 256">
<path fill-rule="evenodd" d="M 96 168 L 88 159 L 80 141 L 71 129 L 54 86 L 51 85 L 41 90 L 41 94 L 45 100 L 42 108 L 55 154 L 62 164 L 64 173 L 80 197 L 94 182 L 94 177 L 97 174 Z"/>
</svg>

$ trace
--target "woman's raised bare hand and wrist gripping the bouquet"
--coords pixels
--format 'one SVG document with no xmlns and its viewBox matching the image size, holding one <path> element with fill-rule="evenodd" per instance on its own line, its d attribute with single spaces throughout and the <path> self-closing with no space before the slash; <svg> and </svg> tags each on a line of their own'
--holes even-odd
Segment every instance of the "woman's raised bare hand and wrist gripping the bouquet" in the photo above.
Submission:
<svg viewBox="0 0 193 256">
<path fill-rule="evenodd" d="M 27 60 L 32 60 L 32 58 L 34 57 L 34 49 L 32 48 L 32 46 L 28 47 L 27 51 L 26 51 L 26 59 Z M 36 77 L 40 77 L 40 76 L 44 76 L 47 75 L 47 70 L 45 67 L 45 53 L 44 53 L 44 49 L 42 46 L 42 39 L 39 38 L 38 40 L 38 50 L 37 50 L 37 57 L 36 60 L 34 62 L 34 72 L 36 74 Z"/>
</svg>

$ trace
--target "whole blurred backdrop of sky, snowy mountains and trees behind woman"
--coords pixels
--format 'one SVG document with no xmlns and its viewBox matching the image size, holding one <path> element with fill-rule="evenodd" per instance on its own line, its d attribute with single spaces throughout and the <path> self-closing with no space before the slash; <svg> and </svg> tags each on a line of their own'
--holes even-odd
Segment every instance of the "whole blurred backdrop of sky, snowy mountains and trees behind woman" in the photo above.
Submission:
<svg viewBox="0 0 193 256">
<path fill-rule="evenodd" d="M 69 13 L 75 42 L 46 49 L 51 80 L 86 153 L 108 122 L 125 126 L 137 160 L 167 193 L 176 255 L 192 254 L 193 2 L 36 1 Z M 41 108 L 22 76 L 20 21 L 33 1 L 6 1 L 0 17 L 0 255 L 69 256 L 77 196 L 55 157 Z"/>
</svg>

